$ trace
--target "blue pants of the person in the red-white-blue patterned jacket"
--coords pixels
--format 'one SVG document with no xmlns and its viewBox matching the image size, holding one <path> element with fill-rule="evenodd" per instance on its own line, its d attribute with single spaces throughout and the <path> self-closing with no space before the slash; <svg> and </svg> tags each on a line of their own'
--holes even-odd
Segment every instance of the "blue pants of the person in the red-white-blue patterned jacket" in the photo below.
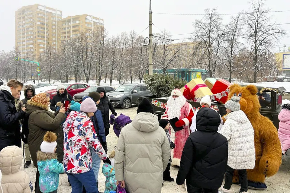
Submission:
<svg viewBox="0 0 290 193">
<path fill-rule="evenodd" d="M 99 193 L 92 169 L 81 174 L 66 174 L 72 185 L 72 193 L 82 193 L 82 186 L 85 186 L 87 193 Z"/>
</svg>

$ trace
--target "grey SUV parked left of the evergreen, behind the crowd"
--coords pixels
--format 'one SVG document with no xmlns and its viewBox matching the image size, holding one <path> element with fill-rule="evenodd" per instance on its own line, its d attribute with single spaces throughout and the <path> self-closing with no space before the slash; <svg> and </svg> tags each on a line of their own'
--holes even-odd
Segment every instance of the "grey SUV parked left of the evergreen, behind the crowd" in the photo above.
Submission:
<svg viewBox="0 0 290 193">
<path fill-rule="evenodd" d="M 140 96 L 151 95 L 145 84 L 123 84 L 114 92 L 108 93 L 108 98 L 113 106 L 121 106 L 123 109 L 129 109 L 132 105 L 138 105 Z"/>
</svg>

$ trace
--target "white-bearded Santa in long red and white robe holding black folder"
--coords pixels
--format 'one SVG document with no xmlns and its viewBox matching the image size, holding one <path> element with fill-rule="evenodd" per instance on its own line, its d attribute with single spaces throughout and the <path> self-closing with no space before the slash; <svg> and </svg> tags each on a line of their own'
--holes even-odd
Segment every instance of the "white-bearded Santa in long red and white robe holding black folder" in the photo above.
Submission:
<svg viewBox="0 0 290 193">
<path fill-rule="evenodd" d="M 186 139 L 190 134 L 189 127 L 191 126 L 193 115 L 193 108 L 191 104 L 186 101 L 185 97 L 182 95 L 182 92 L 179 89 L 172 90 L 171 96 L 167 101 L 166 111 L 164 115 L 161 116 L 161 119 L 168 120 L 177 117 L 179 121 L 176 122 L 175 126 L 184 128 L 176 132 L 171 129 L 172 127 L 169 130 L 172 142 L 175 143 L 175 148 L 171 152 L 172 165 L 179 166 L 180 164 L 182 150 Z"/>
</svg>

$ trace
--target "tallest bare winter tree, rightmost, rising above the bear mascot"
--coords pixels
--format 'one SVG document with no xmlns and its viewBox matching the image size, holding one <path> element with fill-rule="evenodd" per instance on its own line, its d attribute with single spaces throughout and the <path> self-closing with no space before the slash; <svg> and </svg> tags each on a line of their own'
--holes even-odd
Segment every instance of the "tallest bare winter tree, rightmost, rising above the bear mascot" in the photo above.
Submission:
<svg viewBox="0 0 290 193">
<path fill-rule="evenodd" d="M 275 42 L 285 35 L 285 32 L 275 22 L 271 22 L 270 10 L 265 8 L 264 0 L 252 1 L 250 6 L 243 18 L 243 22 L 248 28 L 245 39 L 250 47 L 247 60 L 250 66 L 245 67 L 241 72 L 253 71 L 253 82 L 256 83 L 258 73 L 263 73 L 265 70 L 277 72 L 277 66 L 272 60 L 269 60 L 268 56 L 274 56 L 271 49 Z"/>
</svg>

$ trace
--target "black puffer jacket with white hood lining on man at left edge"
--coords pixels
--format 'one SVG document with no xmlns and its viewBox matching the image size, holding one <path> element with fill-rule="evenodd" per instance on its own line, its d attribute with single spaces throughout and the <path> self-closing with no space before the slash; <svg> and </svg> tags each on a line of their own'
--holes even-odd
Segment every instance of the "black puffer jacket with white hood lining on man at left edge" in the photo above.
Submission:
<svg viewBox="0 0 290 193">
<path fill-rule="evenodd" d="M 10 88 L 2 86 L 1 89 L 3 90 L 0 90 L 0 151 L 10 145 L 21 147 L 19 120 L 26 116 L 24 111 L 16 111 L 14 97 L 7 91 Z"/>
</svg>

